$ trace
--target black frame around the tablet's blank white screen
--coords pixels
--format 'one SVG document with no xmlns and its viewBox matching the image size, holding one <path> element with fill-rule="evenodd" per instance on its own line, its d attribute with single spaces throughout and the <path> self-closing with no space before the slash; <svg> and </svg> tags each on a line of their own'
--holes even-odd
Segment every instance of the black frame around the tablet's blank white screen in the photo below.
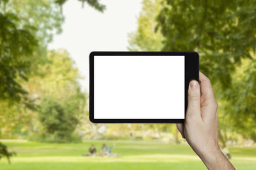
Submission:
<svg viewBox="0 0 256 170">
<path fill-rule="evenodd" d="M 89 119 L 95 124 L 118 123 L 183 123 L 184 119 L 95 119 L 94 118 L 94 56 L 97 55 L 182 55 L 185 56 L 185 118 L 188 106 L 188 86 L 191 80 L 199 81 L 199 55 L 197 52 L 91 52 L 89 57 L 90 68 L 90 98 Z"/>
</svg>

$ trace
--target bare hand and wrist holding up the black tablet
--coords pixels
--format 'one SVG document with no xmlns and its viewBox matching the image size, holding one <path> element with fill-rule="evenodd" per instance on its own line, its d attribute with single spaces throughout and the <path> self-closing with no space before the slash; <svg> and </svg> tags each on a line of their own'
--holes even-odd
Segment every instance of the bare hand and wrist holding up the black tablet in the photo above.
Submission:
<svg viewBox="0 0 256 170">
<path fill-rule="evenodd" d="M 218 104 L 211 81 L 203 73 L 188 89 L 188 109 L 184 124 L 177 124 L 183 138 L 208 169 L 235 169 L 221 152 L 218 143 Z"/>
</svg>

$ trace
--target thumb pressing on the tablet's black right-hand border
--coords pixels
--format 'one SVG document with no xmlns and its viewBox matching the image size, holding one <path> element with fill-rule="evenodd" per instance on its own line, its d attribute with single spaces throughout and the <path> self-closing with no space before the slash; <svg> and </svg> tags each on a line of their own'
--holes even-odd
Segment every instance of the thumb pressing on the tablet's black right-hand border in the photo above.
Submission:
<svg viewBox="0 0 256 170">
<path fill-rule="evenodd" d="M 201 117 L 200 113 L 200 86 L 198 81 L 192 80 L 188 88 L 188 109 L 186 117 Z"/>
</svg>

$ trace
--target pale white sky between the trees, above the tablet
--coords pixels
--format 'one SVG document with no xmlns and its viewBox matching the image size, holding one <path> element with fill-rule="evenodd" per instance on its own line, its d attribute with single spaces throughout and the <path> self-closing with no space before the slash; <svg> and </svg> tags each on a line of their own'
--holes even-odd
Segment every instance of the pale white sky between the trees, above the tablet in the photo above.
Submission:
<svg viewBox="0 0 256 170">
<path fill-rule="evenodd" d="M 102 0 L 104 13 L 81 2 L 70 0 L 63 6 L 65 23 L 55 35 L 49 49 L 65 48 L 84 79 L 83 90 L 89 90 L 89 54 L 92 51 L 127 51 L 128 34 L 135 31 L 141 0 Z"/>
</svg>

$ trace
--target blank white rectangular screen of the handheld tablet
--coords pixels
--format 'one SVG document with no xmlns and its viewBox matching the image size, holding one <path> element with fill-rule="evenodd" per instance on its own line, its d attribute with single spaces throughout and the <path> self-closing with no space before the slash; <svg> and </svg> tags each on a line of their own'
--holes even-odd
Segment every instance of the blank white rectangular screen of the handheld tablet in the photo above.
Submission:
<svg viewBox="0 0 256 170">
<path fill-rule="evenodd" d="M 185 56 L 94 56 L 95 119 L 184 119 Z"/>
</svg>

